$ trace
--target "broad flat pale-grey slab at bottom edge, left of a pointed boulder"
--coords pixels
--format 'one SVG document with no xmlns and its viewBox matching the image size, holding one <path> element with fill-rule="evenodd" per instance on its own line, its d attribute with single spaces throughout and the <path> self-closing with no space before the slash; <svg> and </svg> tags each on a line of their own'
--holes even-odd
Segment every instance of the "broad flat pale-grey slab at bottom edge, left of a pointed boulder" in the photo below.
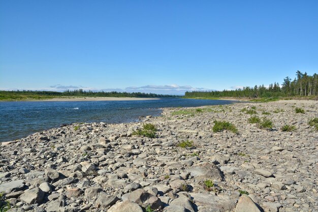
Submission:
<svg viewBox="0 0 318 212">
<path fill-rule="evenodd" d="M 198 206 L 198 211 L 232 211 L 236 203 L 226 197 L 219 197 L 212 194 L 189 193 L 194 204 Z M 211 204 L 213 202 L 213 204 Z"/>
</svg>

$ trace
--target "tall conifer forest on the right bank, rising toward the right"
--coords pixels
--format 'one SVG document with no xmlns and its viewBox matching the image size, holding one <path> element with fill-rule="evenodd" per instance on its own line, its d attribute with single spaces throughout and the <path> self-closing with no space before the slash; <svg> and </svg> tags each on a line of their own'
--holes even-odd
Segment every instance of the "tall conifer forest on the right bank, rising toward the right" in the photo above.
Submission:
<svg viewBox="0 0 318 212">
<path fill-rule="evenodd" d="M 318 75 L 312 76 L 296 72 L 296 78 L 283 79 L 281 86 L 279 83 L 255 87 L 243 87 L 242 89 L 223 90 L 223 91 L 192 91 L 185 92 L 185 98 L 212 98 L 212 97 L 241 97 L 241 98 L 269 98 L 269 97 L 288 97 L 288 96 L 316 96 L 318 95 Z"/>
</svg>

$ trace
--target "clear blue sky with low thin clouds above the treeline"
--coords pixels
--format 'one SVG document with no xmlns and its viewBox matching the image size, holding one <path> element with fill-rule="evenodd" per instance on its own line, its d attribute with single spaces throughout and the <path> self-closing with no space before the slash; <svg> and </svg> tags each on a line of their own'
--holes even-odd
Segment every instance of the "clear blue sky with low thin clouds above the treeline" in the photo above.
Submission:
<svg viewBox="0 0 318 212">
<path fill-rule="evenodd" d="M 0 0 L 0 89 L 183 93 L 318 73 L 318 1 Z"/>
</svg>

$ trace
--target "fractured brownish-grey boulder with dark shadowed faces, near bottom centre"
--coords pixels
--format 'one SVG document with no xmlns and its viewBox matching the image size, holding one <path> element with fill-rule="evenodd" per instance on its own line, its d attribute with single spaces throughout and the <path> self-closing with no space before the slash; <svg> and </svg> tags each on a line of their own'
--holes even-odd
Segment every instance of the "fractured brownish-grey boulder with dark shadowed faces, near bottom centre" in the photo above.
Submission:
<svg viewBox="0 0 318 212">
<path fill-rule="evenodd" d="M 151 209 L 160 209 L 162 207 L 162 201 L 158 197 L 149 194 L 143 189 L 131 192 L 128 199 L 143 207 L 150 206 Z"/>
</svg>

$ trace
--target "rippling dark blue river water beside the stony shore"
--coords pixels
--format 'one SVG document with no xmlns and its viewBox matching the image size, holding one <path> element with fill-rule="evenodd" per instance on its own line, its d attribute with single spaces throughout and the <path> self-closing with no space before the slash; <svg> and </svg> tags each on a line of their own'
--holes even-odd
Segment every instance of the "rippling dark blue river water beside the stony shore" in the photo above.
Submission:
<svg viewBox="0 0 318 212">
<path fill-rule="evenodd" d="M 0 142 L 74 122 L 122 123 L 159 116 L 160 108 L 230 104 L 228 100 L 162 98 L 130 101 L 0 102 Z"/>
</svg>

